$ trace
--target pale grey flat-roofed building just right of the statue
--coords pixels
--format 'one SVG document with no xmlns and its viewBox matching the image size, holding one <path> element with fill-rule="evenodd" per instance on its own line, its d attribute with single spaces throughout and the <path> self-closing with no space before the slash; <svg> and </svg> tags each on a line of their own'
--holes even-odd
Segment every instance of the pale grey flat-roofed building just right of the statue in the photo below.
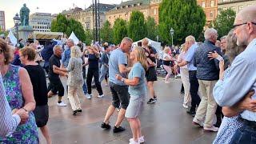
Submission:
<svg viewBox="0 0 256 144">
<path fill-rule="evenodd" d="M 34 31 L 50 32 L 51 21 L 53 16 L 49 13 L 34 13 L 30 15 L 30 26 Z"/>
</svg>

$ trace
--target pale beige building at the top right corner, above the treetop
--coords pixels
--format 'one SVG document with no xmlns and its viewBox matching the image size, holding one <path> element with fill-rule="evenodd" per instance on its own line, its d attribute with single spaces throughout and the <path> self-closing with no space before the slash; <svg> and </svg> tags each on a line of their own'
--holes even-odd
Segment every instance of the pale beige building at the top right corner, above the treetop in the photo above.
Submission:
<svg viewBox="0 0 256 144">
<path fill-rule="evenodd" d="M 256 0 L 218 0 L 218 13 L 222 10 L 232 9 L 236 13 L 246 6 L 256 5 Z"/>
</svg>

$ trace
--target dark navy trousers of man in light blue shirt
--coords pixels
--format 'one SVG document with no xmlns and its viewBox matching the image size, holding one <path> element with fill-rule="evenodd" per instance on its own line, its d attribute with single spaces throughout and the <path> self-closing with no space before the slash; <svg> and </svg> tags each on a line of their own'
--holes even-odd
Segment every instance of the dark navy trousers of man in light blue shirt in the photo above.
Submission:
<svg viewBox="0 0 256 144">
<path fill-rule="evenodd" d="M 201 98 L 198 95 L 199 83 L 197 78 L 197 71 L 190 70 L 189 78 L 190 78 L 190 94 L 192 99 L 190 111 L 195 111 L 196 106 L 199 106 L 201 102 Z"/>
</svg>

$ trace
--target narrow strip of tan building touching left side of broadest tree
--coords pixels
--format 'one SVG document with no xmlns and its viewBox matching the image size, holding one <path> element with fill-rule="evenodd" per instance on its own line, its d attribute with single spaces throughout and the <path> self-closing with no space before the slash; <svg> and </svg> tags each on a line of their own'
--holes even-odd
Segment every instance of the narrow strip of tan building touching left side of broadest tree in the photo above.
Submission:
<svg viewBox="0 0 256 144">
<path fill-rule="evenodd" d="M 154 22 L 156 24 L 159 24 L 159 5 L 162 2 L 162 0 L 151 0 L 150 1 L 150 17 L 154 18 Z"/>
</svg>

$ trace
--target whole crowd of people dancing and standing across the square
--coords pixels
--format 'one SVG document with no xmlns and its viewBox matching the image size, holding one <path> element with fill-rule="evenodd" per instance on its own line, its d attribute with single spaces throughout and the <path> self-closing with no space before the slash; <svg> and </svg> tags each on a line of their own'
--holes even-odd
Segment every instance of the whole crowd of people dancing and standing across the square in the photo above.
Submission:
<svg viewBox="0 0 256 144">
<path fill-rule="evenodd" d="M 248 6 L 237 14 L 234 29 L 220 41 L 218 31 L 207 28 L 205 42 L 196 42 L 190 35 L 181 50 L 166 46 L 162 51 L 164 82 L 170 83 L 171 74 L 174 78 L 181 75 L 182 106 L 194 117 L 195 126 L 218 131 L 214 144 L 256 142 L 255 18 L 256 7 Z M 127 37 L 118 46 L 107 42 L 102 46 L 97 42 L 84 46 L 65 38 L 60 43 L 46 42 L 41 46 L 38 41 L 19 41 L 12 46 L 10 38 L 0 38 L 0 142 L 38 143 L 39 127 L 46 142 L 52 143 L 47 127 L 48 98 L 58 94 L 57 106 L 67 106 L 62 102 L 66 87 L 72 114 L 77 116 L 82 113 L 79 99 L 94 98 L 93 85 L 97 98 L 105 96 L 101 85 L 104 79 L 112 103 L 106 110 L 102 129 L 111 128 L 110 117 L 118 110 L 113 132 L 126 130 L 121 125 L 127 118 L 133 136 L 130 144 L 145 142 L 139 116 L 146 98 L 147 104 L 158 100 L 154 91 L 158 51 L 146 38 L 138 46 L 133 46 L 133 40 Z M 66 86 L 61 77 L 66 78 Z"/>
</svg>

